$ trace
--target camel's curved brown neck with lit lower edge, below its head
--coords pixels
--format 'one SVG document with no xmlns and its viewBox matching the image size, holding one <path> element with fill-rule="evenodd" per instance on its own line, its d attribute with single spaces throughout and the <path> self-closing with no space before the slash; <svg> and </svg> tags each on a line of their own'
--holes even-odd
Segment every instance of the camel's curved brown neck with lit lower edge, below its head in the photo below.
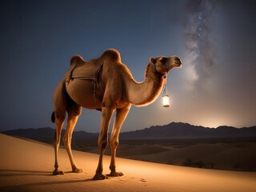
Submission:
<svg viewBox="0 0 256 192">
<path fill-rule="evenodd" d="M 153 64 L 149 64 L 146 70 L 144 82 L 128 81 L 126 85 L 126 97 L 135 106 L 147 106 L 154 102 L 161 94 L 164 74 L 159 74 Z"/>
</svg>

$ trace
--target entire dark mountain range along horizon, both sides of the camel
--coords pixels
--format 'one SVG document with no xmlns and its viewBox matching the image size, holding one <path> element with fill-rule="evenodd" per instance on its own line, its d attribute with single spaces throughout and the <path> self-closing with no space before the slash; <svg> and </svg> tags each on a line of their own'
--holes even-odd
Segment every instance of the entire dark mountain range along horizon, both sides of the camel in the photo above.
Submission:
<svg viewBox="0 0 256 192">
<path fill-rule="evenodd" d="M 31 138 L 42 142 L 53 142 L 55 130 L 50 127 L 38 129 L 5 130 L 3 134 L 23 138 Z M 64 131 L 62 131 L 62 135 Z M 74 131 L 73 141 L 95 142 L 98 134 L 85 131 Z M 120 134 L 121 139 L 166 139 L 166 138 L 256 138 L 256 126 L 235 128 L 233 126 L 218 126 L 208 128 L 192 126 L 183 122 L 171 122 L 165 126 L 151 126 L 144 130 L 135 130 Z"/>
</svg>

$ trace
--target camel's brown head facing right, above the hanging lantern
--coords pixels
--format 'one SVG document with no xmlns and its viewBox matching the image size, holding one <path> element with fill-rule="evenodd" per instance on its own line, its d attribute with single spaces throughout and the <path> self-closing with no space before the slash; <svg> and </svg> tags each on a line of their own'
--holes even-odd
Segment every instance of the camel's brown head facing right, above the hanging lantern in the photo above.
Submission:
<svg viewBox="0 0 256 192">
<path fill-rule="evenodd" d="M 160 74 L 166 74 L 172 68 L 182 66 L 182 62 L 177 56 L 150 58 L 150 63 L 154 64 Z"/>
</svg>

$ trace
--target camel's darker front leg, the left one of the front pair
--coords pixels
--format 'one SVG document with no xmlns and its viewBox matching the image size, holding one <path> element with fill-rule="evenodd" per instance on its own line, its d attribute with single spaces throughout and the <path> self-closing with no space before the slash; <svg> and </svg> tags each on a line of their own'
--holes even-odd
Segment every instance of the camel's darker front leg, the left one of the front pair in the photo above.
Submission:
<svg viewBox="0 0 256 192">
<path fill-rule="evenodd" d="M 101 130 L 98 135 L 99 159 L 96 174 L 94 175 L 95 180 L 101 180 L 106 178 L 106 176 L 102 174 L 102 160 L 106 146 L 108 145 L 107 134 L 110 126 L 110 119 L 112 117 L 113 112 L 114 110 L 109 107 L 102 107 Z"/>
</svg>

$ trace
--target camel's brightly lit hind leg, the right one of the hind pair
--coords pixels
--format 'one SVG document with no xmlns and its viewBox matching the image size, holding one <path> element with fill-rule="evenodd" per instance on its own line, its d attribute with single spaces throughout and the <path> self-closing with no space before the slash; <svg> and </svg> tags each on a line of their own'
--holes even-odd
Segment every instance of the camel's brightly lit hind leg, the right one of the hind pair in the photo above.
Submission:
<svg viewBox="0 0 256 192">
<path fill-rule="evenodd" d="M 64 142 L 64 145 L 66 146 L 66 151 L 67 151 L 67 154 L 69 155 L 70 164 L 72 167 L 72 171 L 74 173 L 82 172 L 82 169 L 78 169 L 78 167 L 75 165 L 74 157 L 73 157 L 72 150 L 71 150 L 71 139 L 72 139 L 74 126 L 78 122 L 78 116 L 81 114 L 81 112 L 82 112 L 82 107 L 78 106 L 75 103 L 68 106 L 67 113 L 68 113 L 69 117 L 67 119 L 66 132 L 63 137 L 63 142 Z"/>
</svg>

